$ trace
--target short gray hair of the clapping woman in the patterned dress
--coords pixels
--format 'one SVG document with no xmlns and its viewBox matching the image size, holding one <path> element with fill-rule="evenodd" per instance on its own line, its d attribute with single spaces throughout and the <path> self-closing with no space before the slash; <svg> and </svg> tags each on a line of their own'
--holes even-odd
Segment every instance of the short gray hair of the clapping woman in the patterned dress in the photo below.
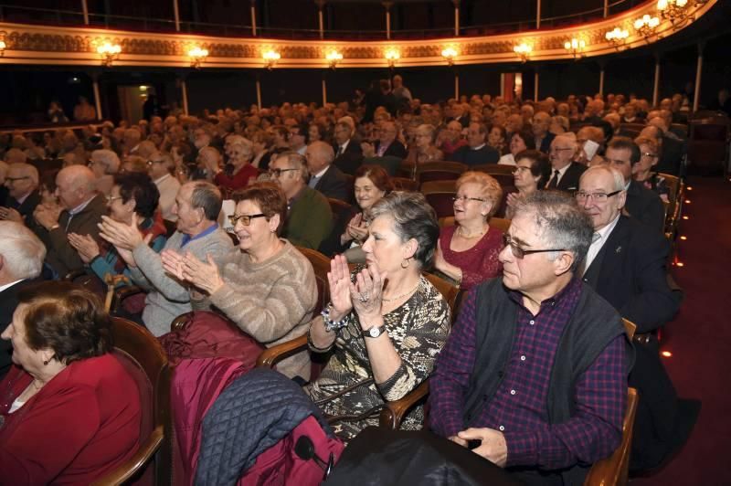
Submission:
<svg viewBox="0 0 731 486">
<path fill-rule="evenodd" d="M 369 211 L 371 220 L 379 216 L 394 218 L 394 231 L 404 243 L 416 239 L 418 248 L 414 259 L 420 269 L 429 269 L 440 238 L 440 225 L 424 195 L 405 191 L 385 195 Z"/>
</svg>

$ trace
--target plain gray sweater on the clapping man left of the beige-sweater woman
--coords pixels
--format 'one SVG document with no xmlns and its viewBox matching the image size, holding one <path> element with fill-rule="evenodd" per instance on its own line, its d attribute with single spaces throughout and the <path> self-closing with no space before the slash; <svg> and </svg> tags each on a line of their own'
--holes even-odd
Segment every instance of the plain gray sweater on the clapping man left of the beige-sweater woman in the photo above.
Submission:
<svg viewBox="0 0 731 486">
<path fill-rule="evenodd" d="M 163 249 L 190 251 L 202 261 L 206 261 L 207 255 L 210 254 L 218 262 L 233 247 L 231 238 L 220 228 L 202 238 L 189 241 L 181 248 L 183 236 L 183 233 L 175 231 Z M 155 336 L 162 336 L 170 332 L 170 322 L 173 322 L 175 317 L 191 311 L 190 285 L 166 273 L 160 255 L 146 244 L 134 248 L 132 255 L 137 262 L 137 268 L 131 272 L 132 280 L 149 291 L 144 300 L 144 325 Z"/>
</svg>

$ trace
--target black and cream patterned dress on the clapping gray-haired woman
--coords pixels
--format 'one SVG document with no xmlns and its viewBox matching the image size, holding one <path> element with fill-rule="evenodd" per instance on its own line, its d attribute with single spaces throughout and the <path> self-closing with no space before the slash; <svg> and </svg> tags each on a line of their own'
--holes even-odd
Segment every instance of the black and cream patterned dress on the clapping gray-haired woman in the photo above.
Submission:
<svg viewBox="0 0 731 486">
<path fill-rule="evenodd" d="M 421 277 L 418 289 L 401 307 L 384 316 L 386 330 L 401 366 L 384 383 L 376 384 L 368 361 L 365 338 L 358 316 L 351 312 L 347 326 L 337 331 L 334 354 L 323 373 L 304 391 L 329 417 L 349 416 L 337 420 L 335 433 L 344 440 L 354 438 L 362 429 L 378 425 L 378 412 L 386 401 L 406 396 L 429 377 L 437 354 L 450 333 L 450 306 L 429 280 Z M 329 350 L 313 348 L 314 352 Z M 353 389 L 348 390 L 349 387 Z M 342 395 L 331 396 L 345 391 Z M 357 417 L 363 415 L 365 417 Z M 423 407 L 415 407 L 401 423 L 401 428 L 418 429 L 424 422 Z"/>
</svg>

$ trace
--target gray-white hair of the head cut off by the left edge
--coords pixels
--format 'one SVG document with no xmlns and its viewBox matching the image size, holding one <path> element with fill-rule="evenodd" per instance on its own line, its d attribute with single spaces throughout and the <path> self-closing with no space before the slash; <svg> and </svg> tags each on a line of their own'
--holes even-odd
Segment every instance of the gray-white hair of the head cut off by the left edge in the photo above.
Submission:
<svg viewBox="0 0 731 486">
<path fill-rule="evenodd" d="M 46 247 L 20 223 L 0 221 L 0 255 L 13 279 L 35 279 L 43 269 Z"/>
</svg>

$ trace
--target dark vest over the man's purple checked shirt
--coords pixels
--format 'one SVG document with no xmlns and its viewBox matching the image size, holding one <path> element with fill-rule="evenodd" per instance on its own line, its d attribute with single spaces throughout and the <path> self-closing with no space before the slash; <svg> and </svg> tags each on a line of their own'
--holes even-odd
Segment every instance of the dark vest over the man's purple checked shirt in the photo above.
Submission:
<svg viewBox="0 0 731 486">
<path fill-rule="evenodd" d="M 546 403 L 550 424 L 566 422 L 574 415 L 573 397 L 578 377 L 615 337 L 624 333 L 617 311 L 587 284 L 581 285 L 579 301 L 561 334 L 551 369 Z M 518 305 L 510 299 L 502 279 L 488 280 L 475 291 L 477 355 L 468 387 L 471 393 L 465 399 L 466 427 L 479 427 L 472 420 L 479 416 L 503 381 L 513 350 L 518 313 Z M 629 350 L 629 342 L 627 346 Z M 590 466 L 579 464 L 560 471 L 563 483 L 582 484 Z"/>
</svg>

